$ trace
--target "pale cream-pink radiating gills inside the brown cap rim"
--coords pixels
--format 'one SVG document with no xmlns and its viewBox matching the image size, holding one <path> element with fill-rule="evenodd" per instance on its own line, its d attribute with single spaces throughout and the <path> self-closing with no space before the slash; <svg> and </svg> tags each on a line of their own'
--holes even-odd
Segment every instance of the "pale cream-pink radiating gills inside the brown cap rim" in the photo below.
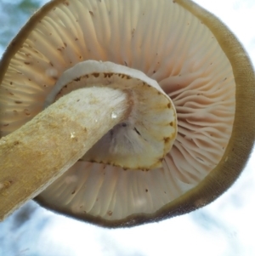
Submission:
<svg viewBox="0 0 255 256">
<path fill-rule="evenodd" d="M 1 136 L 42 111 L 58 77 L 82 60 L 144 71 L 178 113 L 178 137 L 162 168 L 142 172 L 77 162 L 39 197 L 51 208 L 71 207 L 81 218 L 154 213 L 197 185 L 224 154 L 235 112 L 229 60 L 207 27 L 177 3 L 147 3 L 61 2 L 34 25 L 8 65 L 0 86 Z"/>
</svg>

